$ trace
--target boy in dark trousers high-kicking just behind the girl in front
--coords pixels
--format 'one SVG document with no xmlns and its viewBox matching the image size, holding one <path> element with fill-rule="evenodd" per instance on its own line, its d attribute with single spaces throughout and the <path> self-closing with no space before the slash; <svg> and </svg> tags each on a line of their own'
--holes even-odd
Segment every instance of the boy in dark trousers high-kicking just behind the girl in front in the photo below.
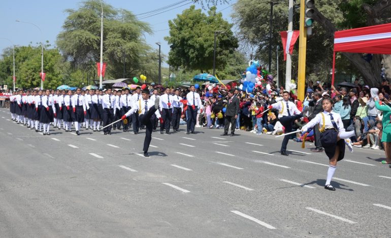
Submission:
<svg viewBox="0 0 391 238">
<path fill-rule="evenodd" d="M 285 133 L 289 133 L 292 131 L 292 124 L 295 120 L 301 118 L 303 115 L 301 111 L 298 110 L 296 104 L 294 102 L 289 101 L 289 92 L 284 91 L 282 93 L 282 101 L 276 102 L 268 108 L 271 110 L 275 108 L 279 110 L 278 118 L 282 126 L 285 127 Z M 288 155 L 286 153 L 286 146 L 289 142 L 290 135 L 285 135 L 281 144 L 281 155 Z"/>
</svg>

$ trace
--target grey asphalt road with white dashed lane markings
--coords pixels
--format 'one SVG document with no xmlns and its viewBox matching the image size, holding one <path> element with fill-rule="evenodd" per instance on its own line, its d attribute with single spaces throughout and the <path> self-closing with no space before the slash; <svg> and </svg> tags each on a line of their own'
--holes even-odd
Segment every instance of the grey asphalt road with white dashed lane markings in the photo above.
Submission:
<svg viewBox="0 0 391 238">
<path fill-rule="evenodd" d="M 27 130 L 0 110 L 0 237 L 390 237 L 384 151 L 354 148 L 323 188 L 313 145 L 239 131 Z M 74 133 L 74 132 L 73 132 Z"/>
</svg>

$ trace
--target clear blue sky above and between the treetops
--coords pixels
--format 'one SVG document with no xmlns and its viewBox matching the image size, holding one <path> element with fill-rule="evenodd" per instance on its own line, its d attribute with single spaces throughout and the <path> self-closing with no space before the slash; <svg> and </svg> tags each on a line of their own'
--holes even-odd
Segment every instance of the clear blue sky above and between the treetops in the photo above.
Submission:
<svg viewBox="0 0 391 238">
<path fill-rule="evenodd" d="M 55 45 L 57 34 L 62 30 L 61 26 L 67 17 L 64 9 L 78 8 L 81 0 L 5 0 L 2 2 L 2 7 L 0 8 L 0 22 L 2 25 L 0 37 L 9 38 L 13 44 L 22 46 L 28 45 L 30 42 L 36 44 L 41 42 L 42 38 L 35 26 L 15 22 L 16 19 L 38 25 L 42 30 L 44 41 L 48 40 L 50 44 Z M 179 0 L 105 0 L 104 2 L 112 5 L 114 8 L 123 8 L 132 11 L 134 14 L 140 14 L 177 3 Z M 236 1 L 232 1 L 232 3 L 234 2 Z M 221 13 L 229 22 L 232 22 L 230 17 L 232 13 L 232 6 L 230 5 L 232 3 L 217 6 L 217 11 L 224 9 Z M 162 53 L 168 55 L 170 48 L 164 40 L 164 37 L 169 34 L 168 20 L 175 18 L 177 14 L 180 14 L 189 6 L 191 4 L 142 19 L 142 21 L 150 23 L 154 30 L 153 35 L 147 35 L 147 43 L 152 47 L 158 47 L 155 43 L 161 42 Z M 196 8 L 201 8 L 201 5 L 196 4 Z M 0 49 L 2 51 L 10 45 L 8 41 L 0 39 Z"/>
</svg>

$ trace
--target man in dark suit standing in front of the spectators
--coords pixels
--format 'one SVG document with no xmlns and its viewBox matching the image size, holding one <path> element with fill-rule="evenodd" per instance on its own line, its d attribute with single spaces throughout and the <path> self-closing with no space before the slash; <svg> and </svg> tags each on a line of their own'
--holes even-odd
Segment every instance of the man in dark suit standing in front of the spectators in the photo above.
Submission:
<svg viewBox="0 0 391 238">
<path fill-rule="evenodd" d="M 235 97 L 234 90 L 228 92 L 227 106 L 225 111 L 225 120 L 224 120 L 224 133 L 221 136 L 227 136 L 228 130 L 231 125 L 231 135 L 235 135 L 235 123 L 236 118 L 238 118 L 239 112 L 239 99 Z"/>
</svg>

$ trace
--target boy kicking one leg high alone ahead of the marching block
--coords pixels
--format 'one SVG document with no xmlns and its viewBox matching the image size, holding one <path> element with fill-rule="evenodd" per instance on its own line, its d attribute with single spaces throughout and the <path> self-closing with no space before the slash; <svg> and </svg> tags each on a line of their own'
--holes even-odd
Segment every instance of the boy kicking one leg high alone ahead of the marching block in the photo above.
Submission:
<svg viewBox="0 0 391 238">
<path fill-rule="evenodd" d="M 162 118 L 159 113 L 159 98 L 156 97 L 155 101 L 148 99 L 149 98 L 149 90 L 144 89 L 142 92 L 142 100 L 140 104 L 135 104 L 134 107 L 132 107 L 131 110 L 126 112 L 121 119 L 124 120 L 127 116 L 134 114 L 135 111 L 140 111 L 140 121 L 145 125 L 145 139 L 144 139 L 144 157 L 149 157 L 148 149 L 149 144 L 151 143 L 152 139 L 152 128 L 154 123 L 154 116 L 156 115 L 160 123 L 162 124 Z M 141 106 L 140 106 L 141 105 Z"/>
</svg>

